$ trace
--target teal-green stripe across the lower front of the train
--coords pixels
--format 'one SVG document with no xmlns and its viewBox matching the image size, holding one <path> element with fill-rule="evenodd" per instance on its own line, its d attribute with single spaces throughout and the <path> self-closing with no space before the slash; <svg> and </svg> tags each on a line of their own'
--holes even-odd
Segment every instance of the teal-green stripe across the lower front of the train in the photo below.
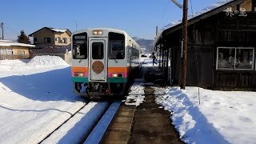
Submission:
<svg viewBox="0 0 256 144">
<path fill-rule="evenodd" d="M 71 81 L 72 82 L 88 82 L 88 78 L 72 77 Z M 107 78 L 107 82 L 124 83 L 124 82 L 127 82 L 127 78 Z"/>
</svg>

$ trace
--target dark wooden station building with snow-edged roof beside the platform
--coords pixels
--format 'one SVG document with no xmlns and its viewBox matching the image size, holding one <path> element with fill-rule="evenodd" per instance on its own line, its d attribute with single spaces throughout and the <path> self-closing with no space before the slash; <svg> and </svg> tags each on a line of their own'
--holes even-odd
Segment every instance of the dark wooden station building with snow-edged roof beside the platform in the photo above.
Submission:
<svg viewBox="0 0 256 144">
<path fill-rule="evenodd" d="M 186 86 L 256 90 L 256 1 L 218 2 L 188 20 Z M 155 39 L 162 70 L 173 85 L 182 80 L 182 23 Z"/>
</svg>

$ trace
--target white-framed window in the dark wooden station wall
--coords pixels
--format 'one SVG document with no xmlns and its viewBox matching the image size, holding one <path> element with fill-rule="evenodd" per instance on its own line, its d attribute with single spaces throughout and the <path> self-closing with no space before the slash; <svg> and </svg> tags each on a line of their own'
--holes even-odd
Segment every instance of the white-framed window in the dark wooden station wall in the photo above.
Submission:
<svg viewBox="0 0 256 144">
<path fill-rule="evenodd" d="M 217 70 L 254 70 L 254 48 L 218 47 Z"/>
</svg>

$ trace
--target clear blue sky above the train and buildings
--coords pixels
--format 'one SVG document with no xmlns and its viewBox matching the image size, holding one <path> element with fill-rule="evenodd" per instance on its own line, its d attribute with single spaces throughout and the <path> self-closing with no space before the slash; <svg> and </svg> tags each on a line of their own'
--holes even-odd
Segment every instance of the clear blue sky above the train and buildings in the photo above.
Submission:
<svg viewBox="0 0 256 144">
<path fill-rule="evenodd" d="M 182 3 L 182 0 L 177 0 Z M 189 14 L 218 0 L 188 0 Z M 182 19 L 182 10 L 170 0 L 1 0 L 0 22 L 5 39 L 17 39 L 20 30 L 31 34 L 44 26 L 82 30 L 110 27 L 133 37 L 154 39 L 161 28 Z M 2 32 L 1 32 L 2 34 Z M 2 35 L 1 35 L 2 36 Z"/>
</svg>

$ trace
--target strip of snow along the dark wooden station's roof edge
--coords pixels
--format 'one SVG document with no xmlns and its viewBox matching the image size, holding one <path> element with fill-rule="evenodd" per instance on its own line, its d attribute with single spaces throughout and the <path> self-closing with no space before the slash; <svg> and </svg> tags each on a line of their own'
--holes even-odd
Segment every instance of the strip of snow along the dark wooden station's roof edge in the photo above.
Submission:
<svg viewBox="0 0 256 144">
<path fill-rule="evenodd" d="M 188 20 L 193 19 L 195 17 L 198 17 L 198 16 L 200 16 L 202 14 L 206 14 L 206 12 L 209 12 L 210 10 L 214 10 L 214 9 L 220 7 L 220 6 L 224 6 L 226 3 L 232 2 L 232 1 L 234 1 L 234 0 L 220 0 L 219 2 L 216 2 L 216 3 L 212 4 L 211 6 L 207 6 L 206 8 L 204 8 L 202 10 L 199 10 L 195 14 L 188 16 Z M 170 29 L 171 27 L 177 26 L 177 25 L 179 25 L 181 23 L 182 23 L 182 20 L 177 20 L 177 21 L 174 21 L 174 22 L 170 22 L 166 26 L 163 26 L 161 28 L 161 30 L 159 30 L 156 38 L 154 38 L 154 46 L 156 45 L 158 40 L 162 37 L 162 32 L 164 30 Z"/>
</svg>

